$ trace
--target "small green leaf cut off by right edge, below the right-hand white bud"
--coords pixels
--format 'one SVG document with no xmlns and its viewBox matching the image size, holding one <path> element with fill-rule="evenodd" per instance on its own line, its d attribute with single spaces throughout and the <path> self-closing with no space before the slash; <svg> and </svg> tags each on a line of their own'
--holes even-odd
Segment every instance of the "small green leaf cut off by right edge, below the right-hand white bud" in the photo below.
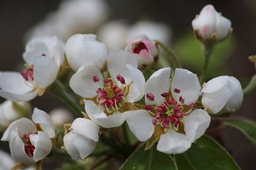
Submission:
<svg viewBox="0 0 256 170">
<path fill-rule="evenodd" d="M 225 122 L 225 125 L 229 125 L 233 128 L 240 130 L 253 145 L 256 146 L 256 123 L 250 120 L 229 120 Z"/>
</svg>

